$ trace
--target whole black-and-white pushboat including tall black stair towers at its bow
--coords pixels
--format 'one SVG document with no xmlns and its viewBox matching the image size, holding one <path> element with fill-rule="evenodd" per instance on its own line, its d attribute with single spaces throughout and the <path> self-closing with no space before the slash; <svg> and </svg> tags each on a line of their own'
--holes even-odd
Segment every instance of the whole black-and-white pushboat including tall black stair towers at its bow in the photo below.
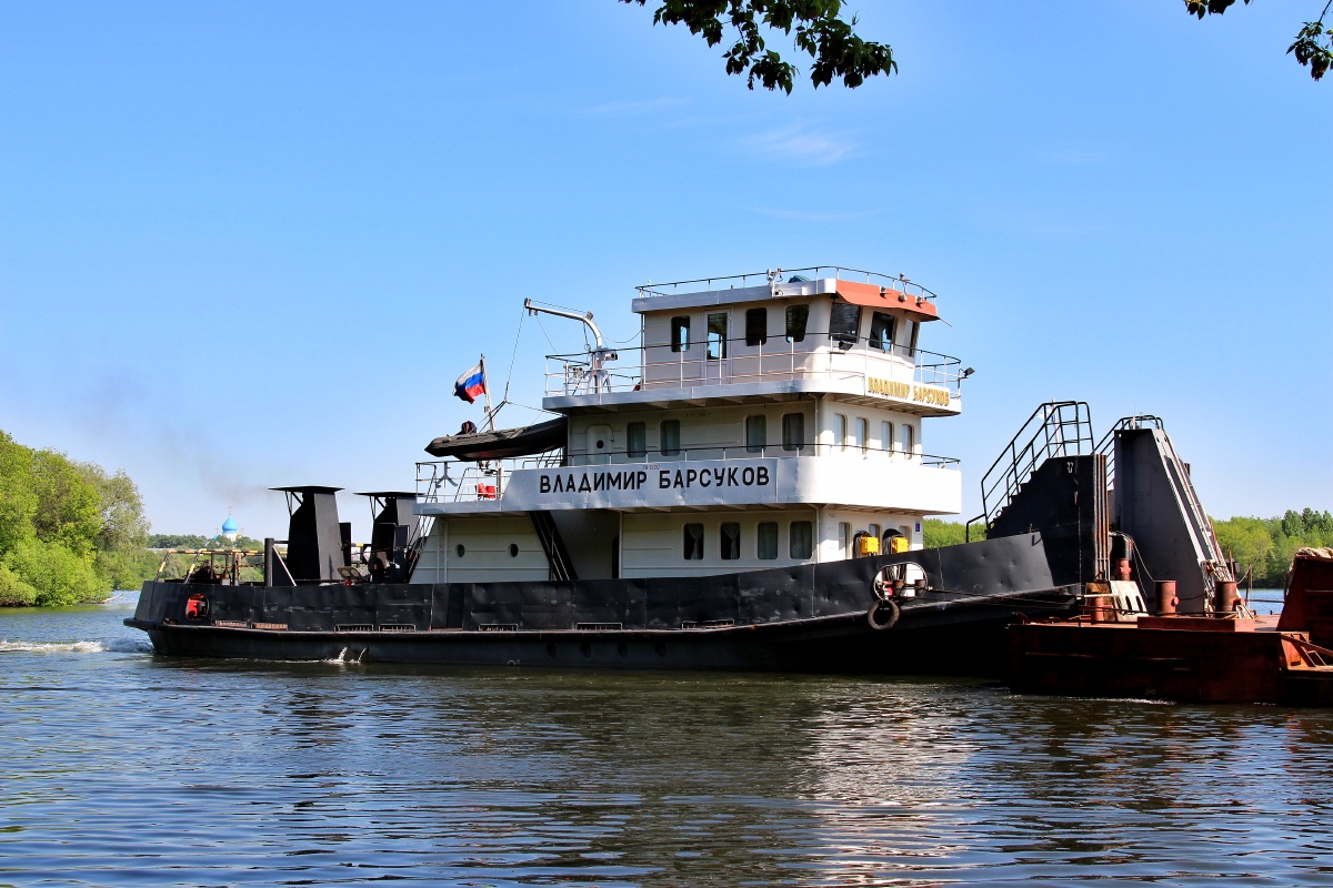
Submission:
<svg viewBox="0 0 1333 888">
<path fill-rule="evenodd" d="M 416 490 L 364 494 L 367 545 L 339 487 L 275 487 L 285 541 L 160 571 L 125 624 L 176 656 L 997 674 L 1008 626 L 1089 588 L 1146 614 L 1174 576 L 1210 612 L 1233 576 L 1156 417 L 1098 441 L 1086 403 L 1038 406 L 982 478 L 984 538 L 924 546 L 962 506 L 924 425 L 972 373 L 921 347 L 936 304 L 829 266 L 644 285 L 611 349 L 528 301 L 593 342 L 547 358 L 552 419 L 432 441 Z"/>
</svg>

